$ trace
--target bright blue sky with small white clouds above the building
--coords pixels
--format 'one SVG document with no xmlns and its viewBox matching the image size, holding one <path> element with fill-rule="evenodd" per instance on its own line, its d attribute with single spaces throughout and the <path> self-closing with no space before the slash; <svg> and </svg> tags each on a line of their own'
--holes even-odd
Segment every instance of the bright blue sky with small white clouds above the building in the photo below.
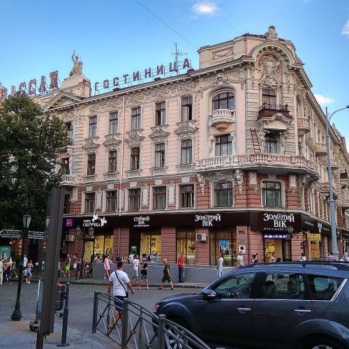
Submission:
<svg viewBox="0 0 349 349">
<path fill-rule="evenodd" d="M 170 27 L 147 12 L 140 3 Z M 349 104 L 348 0 L 0 0 L 0 82 L 10 89 L 59 70 L 62 81 L 73 50 L 94 84 L 171 61 L 174 42 L 198 68 L 197 48 L 274 24 L 292 40 L 329 111 Z M 336 126 L 349 140 L 349 110 Z"/>
</svg>

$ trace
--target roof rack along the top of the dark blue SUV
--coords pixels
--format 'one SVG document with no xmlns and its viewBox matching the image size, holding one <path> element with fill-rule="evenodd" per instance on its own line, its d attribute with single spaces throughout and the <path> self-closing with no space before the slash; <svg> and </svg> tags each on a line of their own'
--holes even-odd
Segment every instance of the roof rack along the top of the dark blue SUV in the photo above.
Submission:
<svg viewBox="0 0 349 349">
<path fill-rule="evenodd" d="M 303 268 L 330 268 L 337 270 L 349 271 L 349 262 L 329 262 L 327 260 L 309 260 L 309 261 L 294 261 L 294 262 L 262 262 L 262 263 L 251 263 L 244 265 L 243 268 L 253 267 L 282 267 L 283 265 L 288 267 L 303 267 Z"/>
</svg>

